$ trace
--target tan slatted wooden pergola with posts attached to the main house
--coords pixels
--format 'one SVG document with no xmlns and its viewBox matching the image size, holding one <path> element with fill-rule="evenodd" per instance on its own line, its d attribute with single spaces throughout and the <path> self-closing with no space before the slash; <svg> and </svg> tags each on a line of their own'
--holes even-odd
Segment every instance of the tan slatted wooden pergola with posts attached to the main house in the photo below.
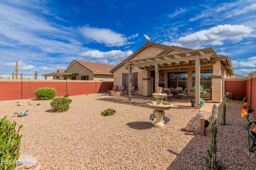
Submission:
<svg viewBox="0 0 256 170">
<path fill-rule="evenodd" d="M 128 68 L 128 95 L 129 99 L 132 99 L 132 68 L 154 68 L 155 70 L 155 92 L 156 88 L 159 86 L 159 69 L 161 68 L 177 68 L 177 66 L 195 66 L 195 100 L 196 109 L 199 109 L 200 102 L 200 66 L 201 61 L 204 64 L 209 64 L 212 58 L 218 58 L 218 54 L 214 51 L 212 47 L 205 49 L 197 49 L 180 53 L 158 55 L 156 57 L 150 57 L 146 59 L 138 59 L 133 61 L 124 61 L 126 68 Z M 192 61 L 193 64 L 192 64 Z M 206 61 L 206 62 L 205 62 Z M 203 62 L 202 62 L 203 63 Z"/>
</svg>

